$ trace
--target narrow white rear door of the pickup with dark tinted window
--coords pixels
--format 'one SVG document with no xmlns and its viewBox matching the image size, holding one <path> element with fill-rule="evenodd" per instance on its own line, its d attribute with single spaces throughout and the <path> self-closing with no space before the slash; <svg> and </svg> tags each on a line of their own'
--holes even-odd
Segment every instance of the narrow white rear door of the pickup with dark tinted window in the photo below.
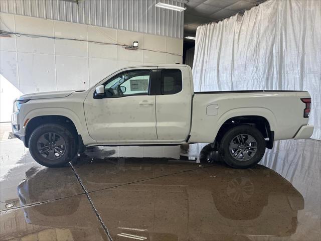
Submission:
<svg viewBox="0 0 321 241">
<path fill-rule="evenodd" d="M 192 87 L 186 66 L 158 67 L 156 131 L 158 140 L 183 142 L 191 128 Z"/>
</svg>

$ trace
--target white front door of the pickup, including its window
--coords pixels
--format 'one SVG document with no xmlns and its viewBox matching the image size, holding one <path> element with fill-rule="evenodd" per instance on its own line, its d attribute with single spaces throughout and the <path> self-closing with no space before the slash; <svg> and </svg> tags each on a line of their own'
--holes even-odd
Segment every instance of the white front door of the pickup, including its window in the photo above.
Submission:
<svg viewBox="0 0 321 241">
<path fill-rule="evenodd" d="M 84 101 L 89 135 L 97 142 L 125 143 L 157 140 L 155 95 L 150 83 L 156 70 L 127 69 L 105 82 L 105 93 L 93 88 Z"/>
</svg>

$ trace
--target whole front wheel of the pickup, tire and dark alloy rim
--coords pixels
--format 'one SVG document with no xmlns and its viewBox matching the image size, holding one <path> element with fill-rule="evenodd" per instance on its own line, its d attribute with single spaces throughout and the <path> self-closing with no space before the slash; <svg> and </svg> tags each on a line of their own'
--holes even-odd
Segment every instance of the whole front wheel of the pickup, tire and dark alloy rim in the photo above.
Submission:
<svg viewBox="0 0 321 241">
<path fill-rule="evenodd" d="M 77 154 L 77 140 L 67 127 L 45 124 L 36 128 L 29 139 L 31 156 L 46 167 L 61 167 Z"/>
</svg>

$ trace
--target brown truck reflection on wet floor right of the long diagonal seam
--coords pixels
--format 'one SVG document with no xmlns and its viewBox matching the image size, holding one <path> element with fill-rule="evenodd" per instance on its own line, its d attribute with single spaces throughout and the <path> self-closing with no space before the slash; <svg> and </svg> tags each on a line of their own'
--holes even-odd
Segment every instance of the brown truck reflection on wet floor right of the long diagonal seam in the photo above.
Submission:
<svg viewBox="0 0 321 241">
<path fill-rule="evenodd" d="M 216 234 L 230 233 L 288 236 L 295 232 L 297 212 L 304 207 L 301 194 L 263 166 L 239 171 L 214 165 L 108 188 L 90 197 L 112 236 L 123 231 L 118 229 L 121 224 L 146 229 L 150 240 L 194 240 L 199 233 L 214 240 Z"/>
</svg>

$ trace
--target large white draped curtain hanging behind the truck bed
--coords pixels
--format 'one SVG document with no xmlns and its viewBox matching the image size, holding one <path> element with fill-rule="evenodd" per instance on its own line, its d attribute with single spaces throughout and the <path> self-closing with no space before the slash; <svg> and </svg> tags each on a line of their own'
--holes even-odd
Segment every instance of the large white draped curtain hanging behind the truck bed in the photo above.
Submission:
<svg viewBox="0 0 321 241">
<path fill-rule="evenodd" d="M 198 27 L 195 91 L 308 90 L 312 138 L 321 140 L 320 10 L 319 0 L 271 0 Z"/>
</svg>

